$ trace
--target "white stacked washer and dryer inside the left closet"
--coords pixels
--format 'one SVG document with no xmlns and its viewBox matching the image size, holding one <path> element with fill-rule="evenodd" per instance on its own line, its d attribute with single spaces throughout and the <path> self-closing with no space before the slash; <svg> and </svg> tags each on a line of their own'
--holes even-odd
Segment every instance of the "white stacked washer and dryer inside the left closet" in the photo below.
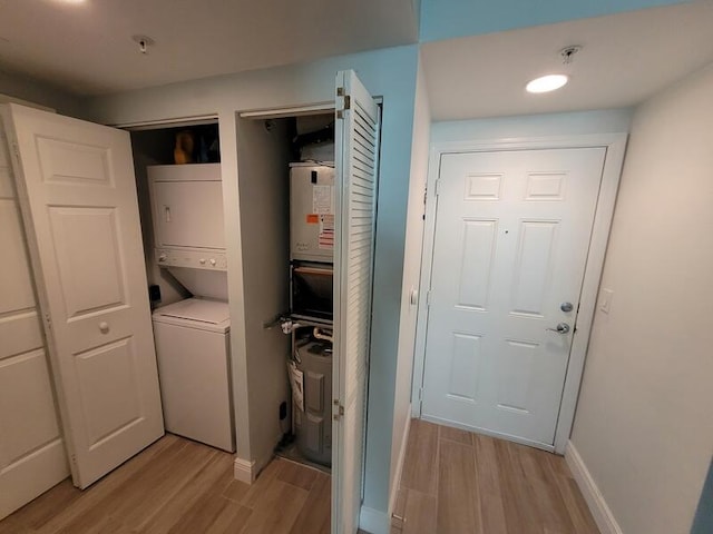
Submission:
<svg viewBox="0 0 713 534">
<path fill-rule="evenodd" d="M 154 259 L 193 294 L 153 314 L 164 424 L 235 452 L 221 165 L 147 170 Z"/>
</svg>

